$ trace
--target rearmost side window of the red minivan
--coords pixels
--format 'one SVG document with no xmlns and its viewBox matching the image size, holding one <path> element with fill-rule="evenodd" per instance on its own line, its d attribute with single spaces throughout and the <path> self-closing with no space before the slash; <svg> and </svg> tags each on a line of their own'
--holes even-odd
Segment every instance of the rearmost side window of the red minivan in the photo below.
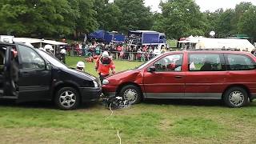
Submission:
<svg viewBox="0 0 256 144">
<path fill-rule="evenodd" d="M 226 54 L 228 70 L 254 70 L 255 62 L 246 55 Z"/>
</svg>

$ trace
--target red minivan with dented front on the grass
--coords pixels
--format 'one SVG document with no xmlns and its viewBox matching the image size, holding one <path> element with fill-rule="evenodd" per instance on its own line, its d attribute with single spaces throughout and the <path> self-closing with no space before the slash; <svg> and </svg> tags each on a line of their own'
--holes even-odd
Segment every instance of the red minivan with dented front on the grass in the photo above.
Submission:
<svg viewBox="0 0 256 144">
<path fill-rule="evenodd" d="M 241 107 L 256 98 L 255 62 L 253 54 L 241 51 L 168 52 L 107 77 L 102 89 L 132 104 L 144 98 L 195 98 Z"/>
</svg>

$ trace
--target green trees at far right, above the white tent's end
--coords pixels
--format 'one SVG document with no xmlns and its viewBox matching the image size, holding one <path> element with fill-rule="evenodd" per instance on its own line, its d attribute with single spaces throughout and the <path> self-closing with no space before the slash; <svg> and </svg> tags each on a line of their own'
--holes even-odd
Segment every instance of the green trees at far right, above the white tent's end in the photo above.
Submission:
<svg viewBox="0 0 256 144">
<path fill-rule="evenodd" d="M 234 10 L 216 10 L 213 13 L 206 11 L 208 31 L 214 30 L 217 37 L 248 34 L 256 38 L 255 31 L 255 6 L 250 2 L 239 3 Z"/>
</svg>

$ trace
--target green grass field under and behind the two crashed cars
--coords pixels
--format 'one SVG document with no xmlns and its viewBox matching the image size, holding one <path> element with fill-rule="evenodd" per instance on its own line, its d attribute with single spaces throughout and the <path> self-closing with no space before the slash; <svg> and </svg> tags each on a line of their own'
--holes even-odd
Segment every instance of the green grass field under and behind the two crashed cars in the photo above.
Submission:
<svg viewBox="0 0 256 144">
<path fill-rule="evenodd" d="M 82 58 L 67 58 L 74 67 Z M 117 71 L 140 62 L 115 61 Z M 86 71 L 96 75 L 94 63 Z M 230 109 L 219 101 L 148 100 L 122 110 L 101 102 L 63 111 L 47 102 L 0 104 L 1 143 L 256 143 L 256 102 Z"/>
</svg>

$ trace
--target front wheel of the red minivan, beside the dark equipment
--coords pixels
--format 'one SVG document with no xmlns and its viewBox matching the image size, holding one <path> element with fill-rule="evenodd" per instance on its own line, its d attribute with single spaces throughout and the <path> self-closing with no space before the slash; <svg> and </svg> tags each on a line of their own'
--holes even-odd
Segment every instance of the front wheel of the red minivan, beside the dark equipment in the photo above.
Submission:
<svg viewBox="0 0 256 144">
<path fill-rule="evenodd" d="M 127 100 L 130 104 L 137 104 L 142 100 L 142 92 L 138 86 L 127 85 L 123 86 L 120 91 L 120 96 Z"/>
</svg>

